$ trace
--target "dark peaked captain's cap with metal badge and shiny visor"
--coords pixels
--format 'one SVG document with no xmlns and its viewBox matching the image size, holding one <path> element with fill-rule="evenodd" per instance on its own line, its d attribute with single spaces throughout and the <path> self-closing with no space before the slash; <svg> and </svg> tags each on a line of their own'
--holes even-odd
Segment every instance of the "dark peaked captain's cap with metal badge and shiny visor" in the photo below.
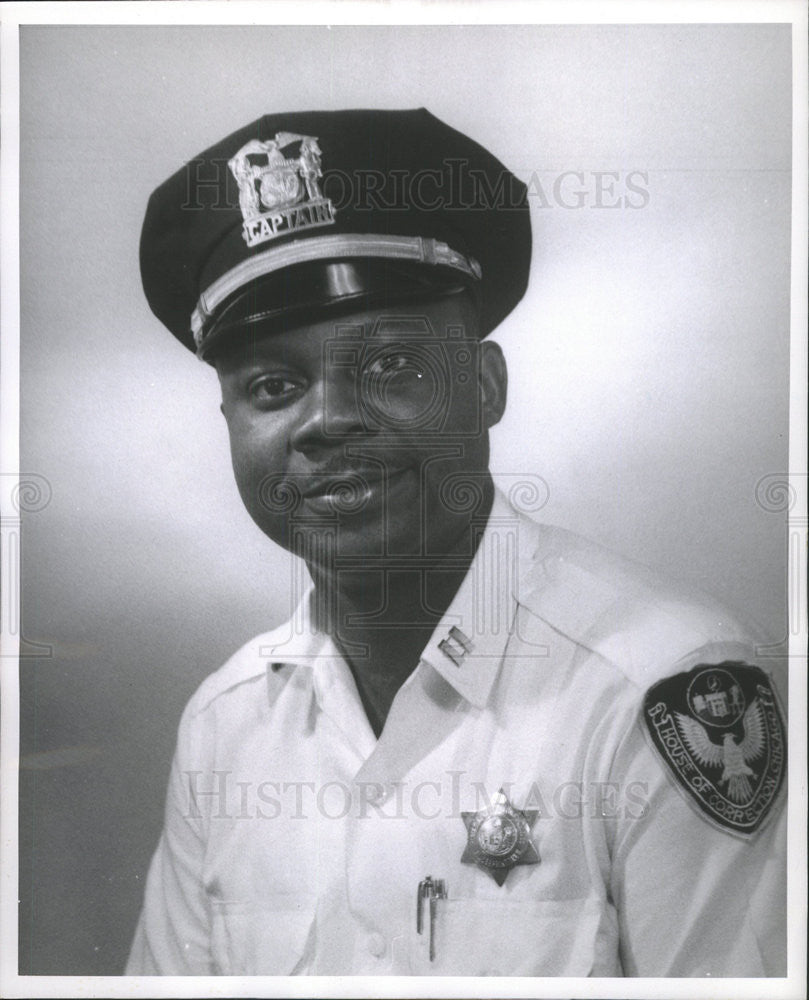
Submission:
<svg viewBox="0 0 809 1000">
<path fill-rule="evenodd" d="M 423 108 L 265 115 L 154 191 L 143 286 L 207 360 L 245 323 L 289 328 L 462 288 L 486 336 L 527 287 L 526 193 Z"/>
</svg>

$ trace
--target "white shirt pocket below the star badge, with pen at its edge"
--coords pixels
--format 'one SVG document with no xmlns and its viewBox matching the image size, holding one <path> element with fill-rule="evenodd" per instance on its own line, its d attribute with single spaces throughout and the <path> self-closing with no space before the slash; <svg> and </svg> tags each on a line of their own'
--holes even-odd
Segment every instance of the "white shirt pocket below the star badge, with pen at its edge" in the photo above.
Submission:
<svg viewBox="0 0 809 1000">
<path fill-rule="evenodd" d="M 425 926 L 418 964 L 438 975 L 589 976 L 601 965 L 601 938 L 614 924 L 605 910 L 606 904 L 592 897 L 441 900 L 435 960 L 427 956 Z"/>
</svg>

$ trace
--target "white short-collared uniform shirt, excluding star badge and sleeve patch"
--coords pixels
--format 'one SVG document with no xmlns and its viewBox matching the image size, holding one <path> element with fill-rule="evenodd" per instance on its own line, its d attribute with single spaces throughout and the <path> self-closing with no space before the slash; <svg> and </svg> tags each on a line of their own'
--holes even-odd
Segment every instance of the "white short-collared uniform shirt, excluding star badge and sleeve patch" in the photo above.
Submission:
<svg viewBox="0 0 809 1000">
<path fill-rule="evenodd" d="M 498 495 L 377 740 L 308 608 L 184 713 L 128 974 L 785 975 L 786 810 L 721 829 L 641 717 L 661 678 L 756 662 L 721 611 Z M 500 789 L 540 858 L 502 886 L 461 862 Z"/>
</svg>

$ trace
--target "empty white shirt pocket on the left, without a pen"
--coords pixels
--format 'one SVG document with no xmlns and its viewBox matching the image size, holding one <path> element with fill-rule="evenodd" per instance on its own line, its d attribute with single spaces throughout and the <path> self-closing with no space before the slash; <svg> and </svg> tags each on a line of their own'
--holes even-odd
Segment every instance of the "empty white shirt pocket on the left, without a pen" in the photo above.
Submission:
<svg viewBox="0 0 809 1000">
<path fill-rule="evenodd" d="M 317 901 L 300 893 L 262 900 L 214 900 L 211 954 L 218 975 L 290 976 L 305 972 Z"/>
</svg>

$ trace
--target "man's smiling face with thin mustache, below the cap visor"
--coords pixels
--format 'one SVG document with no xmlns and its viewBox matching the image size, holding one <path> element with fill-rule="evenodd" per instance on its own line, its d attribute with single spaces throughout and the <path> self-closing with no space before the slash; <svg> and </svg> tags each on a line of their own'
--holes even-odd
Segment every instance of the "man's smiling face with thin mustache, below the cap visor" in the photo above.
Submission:
<svg viewBox="0 0 809 1000">
<path fill-rule="evenodd" d="M 346 556 L 449 551 L 488 488 L 505 405 L 502 354 L 475 322 L 453 296 L 259 326 L 219 358 L 233 469 L 262 531 L 315 562 L 327 538 Z"/>
</svg>

